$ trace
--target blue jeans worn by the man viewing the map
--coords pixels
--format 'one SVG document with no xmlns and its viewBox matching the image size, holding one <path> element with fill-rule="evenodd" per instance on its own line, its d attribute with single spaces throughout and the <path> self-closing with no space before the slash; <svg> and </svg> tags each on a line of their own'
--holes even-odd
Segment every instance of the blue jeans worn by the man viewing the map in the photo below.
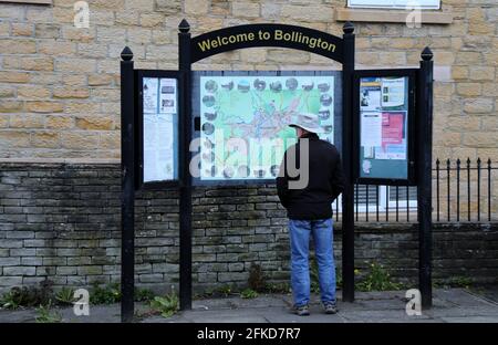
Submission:
<svg viewBox="0 0 498 345">
<path fill-rule="evenodd" d="M 321 300 L 335 302 L 335 264 L 332 219 L 289 220 L 291 244 L 291 285 L 294 306 L 310 301 L 309 244 L 313 236 L 319 269 Z"/>
</svg>

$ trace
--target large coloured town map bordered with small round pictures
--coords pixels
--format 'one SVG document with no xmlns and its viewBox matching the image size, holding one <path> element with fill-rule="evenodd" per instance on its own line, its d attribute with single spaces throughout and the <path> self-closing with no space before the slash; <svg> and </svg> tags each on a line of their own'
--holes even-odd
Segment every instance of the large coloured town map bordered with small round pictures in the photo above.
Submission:
<svg viewBox="0 0 498 345">
<path fill-rule="evenodd" d="M 319 117 L 333 143 L 333 76 L 200 76 L 200 179 L 274 179 L 297 142 L 288 124 Z"/>
</svg>

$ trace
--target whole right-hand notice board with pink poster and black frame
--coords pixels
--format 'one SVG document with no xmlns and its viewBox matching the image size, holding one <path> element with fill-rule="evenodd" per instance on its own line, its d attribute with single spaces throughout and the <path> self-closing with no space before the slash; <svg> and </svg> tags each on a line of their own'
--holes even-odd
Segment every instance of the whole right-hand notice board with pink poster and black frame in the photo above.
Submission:
<svg viewBox="0 0 498 345">
<path fill-rule="evenodd" d="M 355 177 L 363 184 L 414 184 L 415 71 L 356 71 Z"/>
</svg>

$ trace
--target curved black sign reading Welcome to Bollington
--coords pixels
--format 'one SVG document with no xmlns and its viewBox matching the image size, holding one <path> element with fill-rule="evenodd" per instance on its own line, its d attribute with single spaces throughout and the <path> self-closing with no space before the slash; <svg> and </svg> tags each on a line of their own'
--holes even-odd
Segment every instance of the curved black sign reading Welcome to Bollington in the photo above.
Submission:
<svg viewBox="0 0 498 345">
<path fill-rule="evenodd" d="M 252 48 L 281 46 L 309 51 L 342 62 L 342 39 L 322 31 L 282 24 L 250 24 L 221 29 L 191 40 L 191 61 L 222 52 Z"/>
</svg>

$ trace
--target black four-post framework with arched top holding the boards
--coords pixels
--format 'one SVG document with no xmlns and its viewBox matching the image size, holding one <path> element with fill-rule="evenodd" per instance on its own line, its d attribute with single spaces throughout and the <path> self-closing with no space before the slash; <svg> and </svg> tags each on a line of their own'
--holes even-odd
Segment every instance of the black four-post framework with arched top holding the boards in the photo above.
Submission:
<svg viewBox="0 0 498 345">
<path fill-rule="evenodd" d="M 264 32 L 262 30 L 266 30 Z M 259 32 L 261 31 L 261 35 Z M 234 32 L 238 32 L 234 35 Z M 258 34 L 258 40 L 256 36 Z M 276 40 L 267 40 L 268 34 L 274 35 Z M 314 38 L 312 38 L 314 35 Z M 249 41 L 237 43 L 239 38 L 248 38 Z M 252 40 L 253 38 L 255 40 Z M 283 38 L 283 40 L 278 40 Z M 288 38 L 289 40 L 287 40 Z M 325 48 L 331 53 L 324 51 L 313 51 L 311 41 L 318 44 L 324 41 Z M 231 42 L 230 40 L 235 40 Z M 264 40 L 262 42 L 261 40 Z M 210 41 L 211 46 L 206 49 L 206 42 Z M 237 43 L 231 45 L 215 44 L 212 42 Z M 295 41 L 295 42 L 294 42 Z M 205 43 L 203 43 L 205 42 Z M 184 19 L 178 25 L 178 73 L 179 85 L 179 181 L 174 181 L 179 191 L 179 306 L 180 310 L 191 309 L 191 272 L 193 272 L 193 185 L 189 171 L 191 153 L 188 149 L 193 134 L 191 113 L 191 64 L 205 58 L 216 55 L 221 52 L 252 48 L 252 46 L 282 46 L 303 51 L 310 51 L 339 63 L 342 63 L 342 159 L 344 168 L 345 185 L 342 198 L 342 274 L 344 302 L 354 301 L 354 145 L 353 123 L 357 116 L 354 115 L 353 101 L 356 106 L 359 102 L 359 91 L 353 92 L 354 76 L 354 44 L 355 34 L 352 23 L 343 25 L 342 39 L 325 32 L 286 25 L 286 24 L 248 24 L 225 28 L 204 33 L 196 38 L 190 35 L 190 25 Z M 299 43 L 299 44 L 298 44 Z M 411 145 L 411 155 L 416 149 L 416 181 L 417 182 L 417 217 L 418 217 L 418 286 L 422 293 L 422 307 L 432 306 L 432 143 L 433 143 L 433 82 L 434 62 L 433 53 L 428 46 L 421 54 L 421 67 L 416 73 L 416 129 L 411 126 L 411 138 L 415 139 L 413 130 L 416 130 L 417 147 Z M 137 163 L 136 157 L 141 154 L 137 150 L 136 142 L 141 136 L 137 132 L 137 70 L 134 70 L 133 52 L 125 46 L 121 53 L 121 177 L 122 177 L 122 270 L 121 270 L 121 316 L 122 322 L 134 320 L 134 286 L 135 286 L 135 192 L 143 188 L 136 185 Z M 403 70 L 405 72 L 406 70 Z M 152 71 L 157 72 L 157 71 Z M 372 73 L 372 71 L 367 71 Z M 394 75 L 394 74 L 391 74 Z M 141 100 L 142 101 L 142 100 Z M 412 114 L 415 114 L 413 111 Z M 357 115 L 357 114 L 356 114 Z M 415 115 L 414 115 L 415 116 Z M 412 116 L 413 117 L 413 116 Z M 357 125 L 357 123 L 356 123 Z M 356 127 L 357 128 L 357 127 Z M 138 143 L 142 142 L 138 140 Z M 357 144 L 357 140 L 356 140 Z M 411 160 L 412 161 L 412 160 Z M 414 176 L 414 175 L 412 175 Z M 390 185 L 396 185 L 396 180 L 387 180 Z M 371 184 L 371 182 L 370 182 Z M 166 184 L 169 185 L 169 184 Z M 136 188 L 138 187 L 138 188 Z"/>
</svg>

